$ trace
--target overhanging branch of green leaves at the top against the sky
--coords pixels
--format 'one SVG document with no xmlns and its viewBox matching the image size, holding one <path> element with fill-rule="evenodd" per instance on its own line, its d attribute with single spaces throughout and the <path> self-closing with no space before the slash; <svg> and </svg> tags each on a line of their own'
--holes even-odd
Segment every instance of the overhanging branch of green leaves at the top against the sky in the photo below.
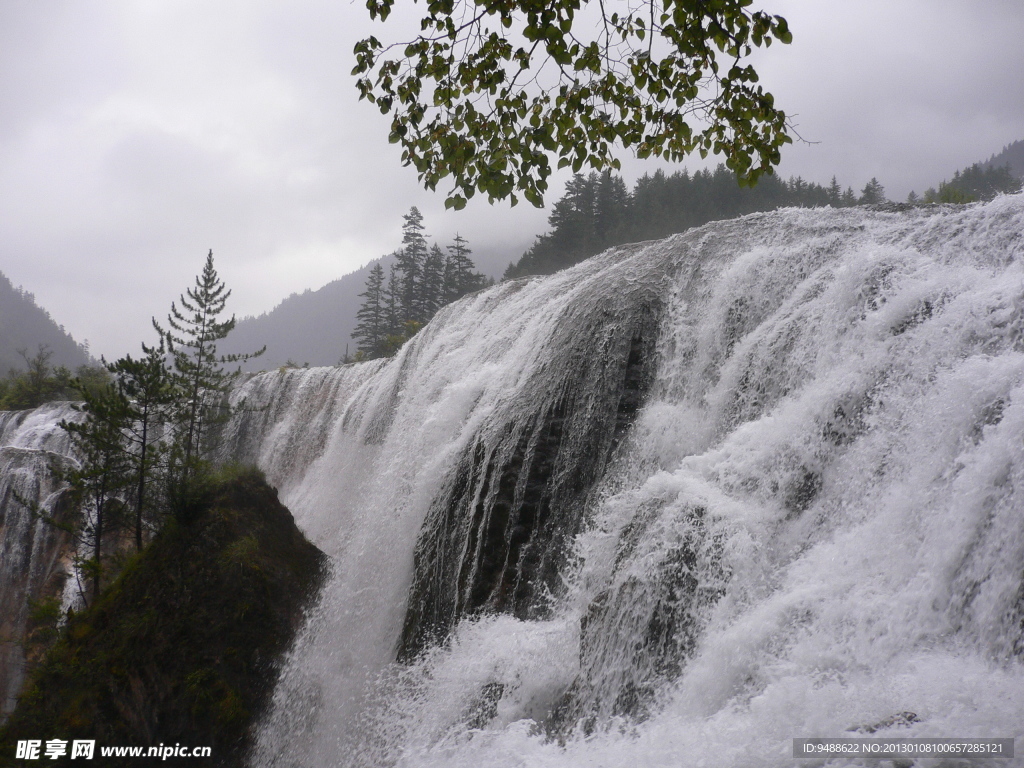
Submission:
<svg viewBox="0 0 1024 768">
<path fill-rule="evenodd" d="M 744 60 L 788 43 L 750 0 L 663 0 L 608 13 L 585 34 L 580 0 L 428 0 L 421 34 L 355 45 L 359 97 L 428 189 L 461 209 L 477 191 L 542 206 L 557 168 L 618 169 L 616 147 L 679 161 L 722 155 L 742 183 L 776 166 L 785 113 Z M 394 0 L 368 0 L 386 19 Z"/>
</svg>

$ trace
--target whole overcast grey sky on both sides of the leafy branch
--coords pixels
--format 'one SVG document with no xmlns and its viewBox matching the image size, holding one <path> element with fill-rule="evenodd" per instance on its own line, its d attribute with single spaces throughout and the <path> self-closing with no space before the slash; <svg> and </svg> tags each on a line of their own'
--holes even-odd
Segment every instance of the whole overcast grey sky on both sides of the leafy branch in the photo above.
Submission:
<svg viewBox="0 0 1024 768">
<path fill-rule="evenodd" d="M 795 36 L 762 81 L 816 142 L 782 175 L 901 200 L 1024 138 L 1021 0 L 760 5 Z M 439 241 L 517 258 L 547 212 L 444 213 L 420 189 L 355 98 L 369 30 L 348 0 L 0 0 L 0 270 L 112 357 L 153 340 L 210 248 L 239 316 L 394 250 L 413 205 Z"/>
</svg>

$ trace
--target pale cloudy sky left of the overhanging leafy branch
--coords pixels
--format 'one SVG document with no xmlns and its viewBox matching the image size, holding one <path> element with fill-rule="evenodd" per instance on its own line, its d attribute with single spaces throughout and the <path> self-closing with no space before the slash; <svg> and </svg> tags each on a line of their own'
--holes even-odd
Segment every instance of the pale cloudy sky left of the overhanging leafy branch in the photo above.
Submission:
<svg viewBox="0 0 1024 768">
<path fill-rule="evenodd" d="M 133 348 L 209 248 L 240 314 L 432 230 L 497 244 L 500 210 L 440 216 L 357 103 L 364 10 L 309 0 L 14 2 L 3 8 L 0 269 L 79 338 Z M 544 214 L 526 212 L 525 231 Z M 486 226 L 478 226 L 479 221 Z M 523 227 L 509 256 L 528 244 Z"/>
</svg>

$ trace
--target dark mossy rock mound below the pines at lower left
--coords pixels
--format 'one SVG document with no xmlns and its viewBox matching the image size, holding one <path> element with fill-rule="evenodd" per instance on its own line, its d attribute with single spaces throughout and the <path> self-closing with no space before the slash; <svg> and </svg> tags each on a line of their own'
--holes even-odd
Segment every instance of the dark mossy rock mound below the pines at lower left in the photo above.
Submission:
<svg viewBox="0 0 1024 768">
<path fill-rule="evenodd" d="M 325 566 L 259 472 L 220 482 L 69 618 L 0 731 L 0 763 L 17 739 L 59 737 L 209 745 L 212 764 L 243 765 Z"/>
</svg>

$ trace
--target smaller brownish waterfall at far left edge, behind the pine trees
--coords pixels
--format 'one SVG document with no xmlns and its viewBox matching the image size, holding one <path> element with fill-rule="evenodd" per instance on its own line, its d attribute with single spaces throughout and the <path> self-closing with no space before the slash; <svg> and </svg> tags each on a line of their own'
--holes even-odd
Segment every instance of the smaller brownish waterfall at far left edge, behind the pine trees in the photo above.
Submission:
<svg viewBox="0 0 1024 768">
<path fill-rule="evenodd" d="M 51 466 L 68 461 L 71 451 L 57 424 L 76 418 L 67 402 L 0 411 L 0 719 L 13 710 L 24 679 L 22 640 L 32 601 L 59 590 L 69 572 L 68 536 L 36 518 L 23 500 L 57 518 L 66 513 Z"/>
</svg>

